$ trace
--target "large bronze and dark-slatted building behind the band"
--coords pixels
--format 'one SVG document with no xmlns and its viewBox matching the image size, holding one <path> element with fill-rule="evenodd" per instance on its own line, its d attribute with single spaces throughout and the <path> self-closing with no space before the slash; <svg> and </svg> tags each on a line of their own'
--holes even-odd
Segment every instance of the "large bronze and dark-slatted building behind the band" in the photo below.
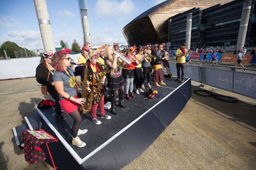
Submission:
<svg viewBox="0 0 256 170">
<path fill-rule="evenodd" d="M 169 0 L 141 13 L 122 31 L 129 45 L 170 42 L 171 47 L 175 47 L 180 42 L 185 42 L 186 17 L 188 13 L 193 13 L 191 47 L 227 46 L 236 42 L 242 10 L 243 0 Z M 255 43 L 255 18 L 253 0 L 246 45 Z M 221 31 L 223 38 L 220 38 Z"/>
</svg>

